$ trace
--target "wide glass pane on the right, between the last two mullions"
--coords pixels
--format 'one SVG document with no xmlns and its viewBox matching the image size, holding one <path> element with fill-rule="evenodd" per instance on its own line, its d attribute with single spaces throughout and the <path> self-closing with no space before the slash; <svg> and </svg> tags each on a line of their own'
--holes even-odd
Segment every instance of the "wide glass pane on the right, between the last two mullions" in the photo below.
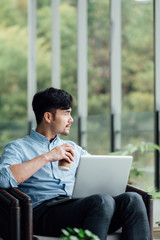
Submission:
<svg viewBox="0 0 160 240">
<path fill-rule="evenodd" d="M 154 143 L 153 31 L 153 1 L 122 0 L 122 149 Z M 154 186 L 154 151 L 134 153 L 132 181 Z"/>
</svg>

